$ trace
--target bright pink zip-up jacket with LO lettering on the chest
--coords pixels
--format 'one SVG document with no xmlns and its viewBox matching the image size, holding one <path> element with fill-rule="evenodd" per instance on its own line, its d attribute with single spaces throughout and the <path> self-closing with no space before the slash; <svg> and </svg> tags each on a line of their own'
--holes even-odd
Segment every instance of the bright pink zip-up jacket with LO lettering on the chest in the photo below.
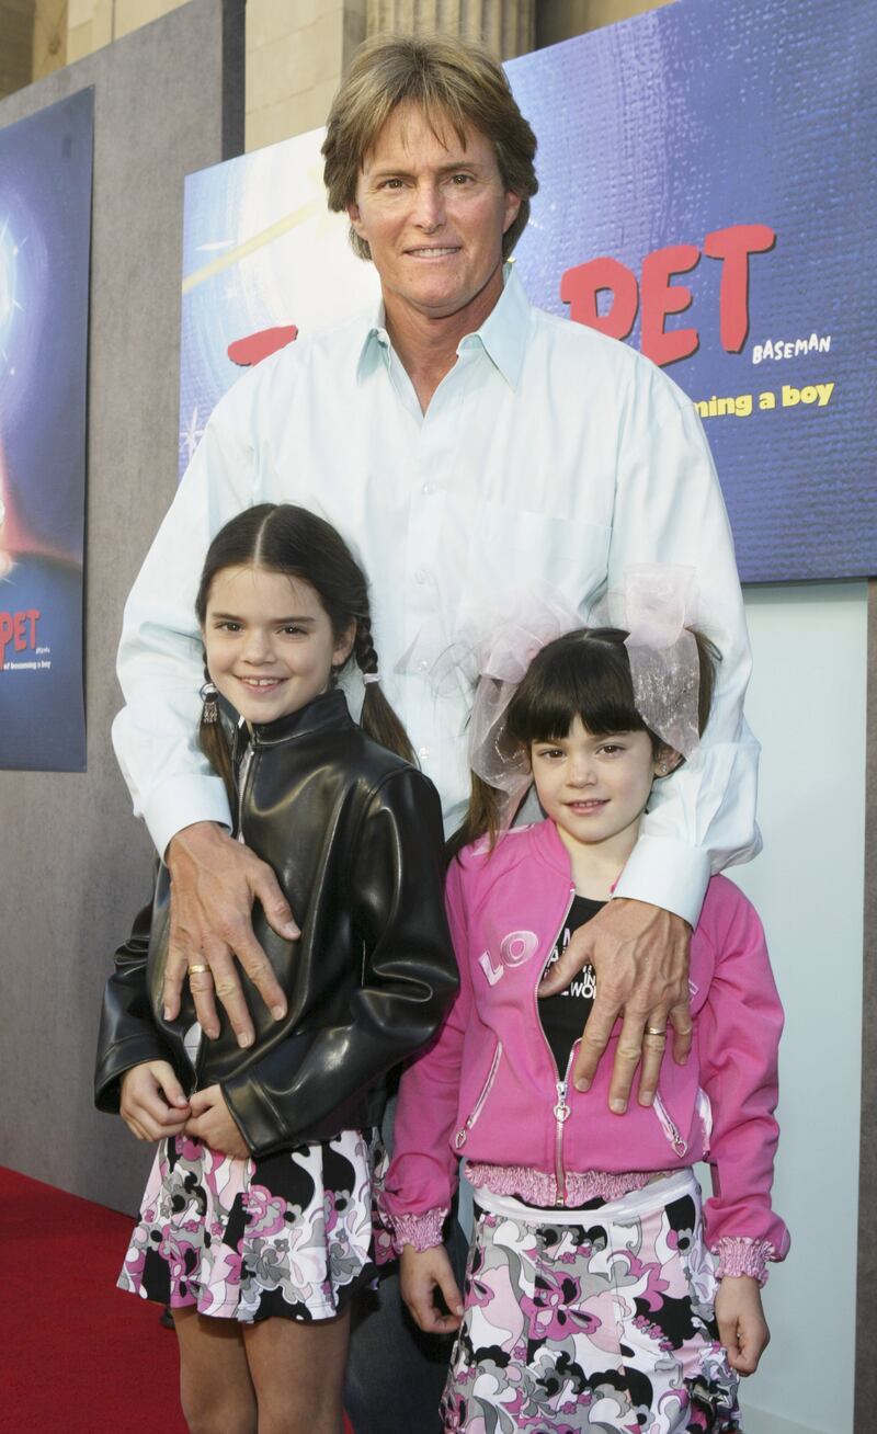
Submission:
<svg viewBox="0 0 877 1434">
<path fill-rule="evenodd" d="M 516 827 L 451 863 L 447 906 L 460 992 L 427 1053 L 403 1076 L 383 1206 L 397 1242 L 441 1239 L 459 1157 L 545 1172 L 565 1203 L 567 1172 L 663 1172 L 709 1160 L 706 1243 L 719 1275 L 764 1279 L 788 1232 L 771 1209 L 782 1008 L 761 922 L 715 876 L 691 944 L 694 1045 L 663 1061 L 652 1107 L 608 1107 L 620 1021 L 592 1088 L 557 1071 L 539 1020 L 542 972 L 572 903 L 553 822 Z"/>
</svg>

